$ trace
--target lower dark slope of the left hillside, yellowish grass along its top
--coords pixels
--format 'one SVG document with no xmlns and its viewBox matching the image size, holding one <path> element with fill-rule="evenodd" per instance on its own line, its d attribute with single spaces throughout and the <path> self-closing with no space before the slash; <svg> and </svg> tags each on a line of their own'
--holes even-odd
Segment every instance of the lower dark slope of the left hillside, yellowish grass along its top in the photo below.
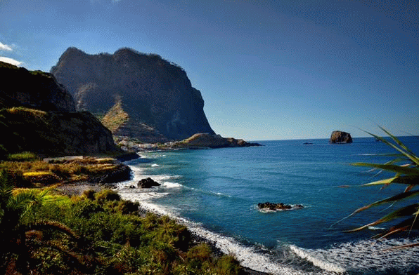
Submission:
<svg viewBox="0 0 419 275">
<path fill-rule="evenodd" d="M 122 153 L 110 130 L 89 112 L 1 109 L 0 132 L 3 155 L 23 151 L 46 156 Z"/>
</svg>

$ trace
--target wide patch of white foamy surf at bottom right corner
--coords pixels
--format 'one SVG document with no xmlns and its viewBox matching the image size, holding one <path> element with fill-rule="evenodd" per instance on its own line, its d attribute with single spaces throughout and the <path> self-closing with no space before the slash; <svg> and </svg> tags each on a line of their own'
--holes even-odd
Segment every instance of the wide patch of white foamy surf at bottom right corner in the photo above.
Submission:
<svg viewBox="0 0 419 275">
<path fill-rule="evenodd" d="M 419 239 L 365 240 L 342 243 L 329 249 L 304 249 L 297 246 L 290 248 L 299 257 L 329 271 L 385 272 L 396 269 L 404 272 L 419 267 L 419 248 L 408 248 L 408 253 L 406 250 L 389 250 L 389 248 L 418 241 Z"/>
</svg>

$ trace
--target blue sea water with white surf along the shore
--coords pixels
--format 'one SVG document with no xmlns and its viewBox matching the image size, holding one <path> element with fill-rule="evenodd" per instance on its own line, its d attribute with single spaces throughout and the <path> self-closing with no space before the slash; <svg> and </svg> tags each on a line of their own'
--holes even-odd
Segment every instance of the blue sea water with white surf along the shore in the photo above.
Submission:
<svg viewBox="0 0 419 275">
<path fill-rule="evenodd" d="M 419 137 L 400 137 L 419 152 Z M 304 142 L 312 144 L 305 145 Z M 328 140 L 261 141 L 263 147 L 141 153 L 129 161 L 134 180 L 118 191 L 125 199 L 184 222 L 196 234 L 235 255 L 246 267 L 271 274 L 417 274 L 419 248 L 387 250 L 419 241 L 418 232 L 372 239 L 388 224 L 344 232 L 400 205 L 348 217 L 403 186 L 359 187 L 392 174 L 368 172 L 354 162 L 385 163 L 394 153 L 374 138 L 330 145 Z M 152 177 L 162 184 L 131 189 Z M 417 198 L 416 198 L 417 200 Z M 295 210 L 261 212 L 257 203 L 302 204 Z"/>
</svg>

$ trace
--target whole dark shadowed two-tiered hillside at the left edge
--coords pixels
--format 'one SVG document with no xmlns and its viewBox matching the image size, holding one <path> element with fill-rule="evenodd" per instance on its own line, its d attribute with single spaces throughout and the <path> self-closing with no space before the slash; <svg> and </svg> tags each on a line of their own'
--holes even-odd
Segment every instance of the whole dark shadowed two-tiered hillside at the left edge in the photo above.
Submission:
<svg viewBox="0 0 419 275">
<path fill-rule="evenodd" d="M 52 74 L 0 62 L 0 75 L 0 155 L 122 152 L 94 115 L 75 112 L 72 96 Z"/>
</svg>

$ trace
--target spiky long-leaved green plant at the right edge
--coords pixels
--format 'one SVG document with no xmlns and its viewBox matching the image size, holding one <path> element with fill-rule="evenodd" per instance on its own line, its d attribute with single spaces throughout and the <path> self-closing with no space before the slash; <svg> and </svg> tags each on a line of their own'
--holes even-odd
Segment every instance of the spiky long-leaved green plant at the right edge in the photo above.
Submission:
<svg viewBox="0 0 419 275">
<path fill-rule="evenodd" d="M 363 206 L 354 211 L 351 215 L 359 213 L 363 210 L 368 208 L 372 208 L 375 206 L 382 206 L 385 204 L 389 204 L 390 206 L 394 205 L 394 203 L 399 203 L 401 201 L 408 201 L 407 206 L 401 206 L 396 210 L 388 213 L 384 217 L 381 217 L 374 222 L 369 224 L 363 225 L 362 227 L 356 228 L 351 230 L 350 232 L 356 232 L 366 227 L 374 226 L 376 224 L 381 224 L 385 222 L 390 222 L 392 220 L 403 218 L 401 222 L 398 224 L 390 227 L 387 232 L 381 234 L 381 237 L 389 236 L 391 234 L 402 232 L 402 231 L 411 231 L 412 229 L 419 229 L 419 203 L 417 200 L 411 201 L 415 196 L 419 195 L 419 190 L 417 189 L 419 185 L 419 158 L 416 156 L 406 145 L 404 145 L 397 137 L 389 133 L 384 128 L 380 127 L 389 137 L 391 141 L 385 140 L 383 137 L 379 137 L 378 135 L 374 135 L 372 133 L 368 133 L 372 135 L 380 142 L 385 143 L 389 147 L 397 150 L 397 154 L 382 154 L 380 156 L 392 156 L 394 159 L 391 161 L 387 161 L 387 163 L 379 164 L 379 163 L 353 163 L 354 166 L 364 166 L 373 168 L 373 170 L 380 170 L 387 171 L 390 173 L 394 173 L 393 177 L 389 177 L 385 180 L 378 180 L 375 182 L 369 182 L 363 186 L 375 186 L 375 185 L 382 185 L 382 188 L 388 187 L 392 184 L 397 185 L 404 185 L 406 188 L 404 192 L 391 196 L 387 199 L 382 199 L 380 201 L 375 201 L 374 203 L 370 203 L 368 206 Z M 419 243 L 409 244 L 408 246 L 419 246 Z"/>
</svg>

